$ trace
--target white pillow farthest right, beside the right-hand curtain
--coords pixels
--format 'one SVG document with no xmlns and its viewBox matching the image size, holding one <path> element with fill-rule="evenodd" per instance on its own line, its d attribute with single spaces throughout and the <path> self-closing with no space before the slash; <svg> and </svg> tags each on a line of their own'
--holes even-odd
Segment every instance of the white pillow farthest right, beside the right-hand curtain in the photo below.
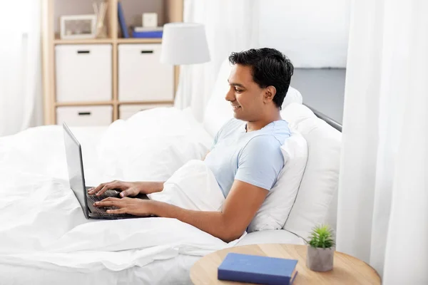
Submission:
<svg viewBox="0 0 428 285">
<path fill-rule="evenodd" d="M 297 107 L 305 106 L 290 105 L 288 108 Z M 339 180 L 342 134 L 319 118 L 299 118 L 298 122 L 294 123 L 294 118 L 287 117 L 285 110 L 285 119 L 290 122 L 290 127 L 300 132 L 307 141 L 308 156 L 299 192 L 284 229 L 306 239 L 310 230 L 317 224 L 328 222 L 335 228 L 335 224 L 332 224 L 335 219 L 332 219 L 330 214 L 337 211 L 335 196 Z"/>
</svg>

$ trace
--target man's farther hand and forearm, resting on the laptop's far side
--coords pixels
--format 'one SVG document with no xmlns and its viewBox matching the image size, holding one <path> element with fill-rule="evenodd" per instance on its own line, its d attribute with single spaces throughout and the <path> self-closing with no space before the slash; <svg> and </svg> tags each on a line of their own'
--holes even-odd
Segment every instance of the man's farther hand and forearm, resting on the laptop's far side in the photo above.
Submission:
<svg viewBox="0 0 428 285">
<path fill-rule="evenodd" d="M 88 189 L 88 195 L 103 195 L 107 190 L 121 190 L 121 197 L 134 197 L 139 193 L 151 194 L 163 190 L 163 182 L 123 182 L 111 181 L 101 183 L 97 187 Z"/>
</svg>

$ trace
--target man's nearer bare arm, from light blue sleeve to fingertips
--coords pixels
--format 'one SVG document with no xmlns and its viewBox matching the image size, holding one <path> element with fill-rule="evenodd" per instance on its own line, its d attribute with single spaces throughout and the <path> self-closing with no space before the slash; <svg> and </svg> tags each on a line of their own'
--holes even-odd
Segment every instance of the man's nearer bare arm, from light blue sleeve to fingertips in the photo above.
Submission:
<svg viewBox="0 0 428 285">
<path fill-rule="evenodd" d="M 141 199 L 107 198 L 97 207 L 114 206 L 110 213 L 155 214 L 158 217 L 179 219 L 225 242 L 238 239 L 250 224 L 268 191 L 240 180 L 233 182 L 222 212 L 203 212 L 183 209 L 171 204 Z"/>
</svg>

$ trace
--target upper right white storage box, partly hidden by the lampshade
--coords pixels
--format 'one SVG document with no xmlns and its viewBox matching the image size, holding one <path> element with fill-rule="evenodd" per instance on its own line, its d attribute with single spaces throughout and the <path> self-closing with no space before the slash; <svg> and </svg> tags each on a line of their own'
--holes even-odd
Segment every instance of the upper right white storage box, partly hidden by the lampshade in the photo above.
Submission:
<svg viewBox="0 0 428 285">
<path fill-rule="evenodd" d="M 159 61 L 161 44 L 118 45 L 120 101 L 172 101 L 174 68 Z"/>
</svg>

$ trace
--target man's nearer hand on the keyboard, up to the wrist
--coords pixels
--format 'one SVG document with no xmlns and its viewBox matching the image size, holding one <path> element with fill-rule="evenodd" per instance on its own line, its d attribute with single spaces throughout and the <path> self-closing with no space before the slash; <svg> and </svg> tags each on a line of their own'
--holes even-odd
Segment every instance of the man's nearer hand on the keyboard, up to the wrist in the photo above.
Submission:
<svg viewBox="0 0 428 285">
<path fill-rule="evenodd" d="M 124 197 L 123 199 L 108 197 L 100 202 L 95 202 L 94 207 L 117 207 L 108 209 L 109 214 L 133 214 L 135 216 L 146 216 L 153 214 L 153 202 L 146 199 L 134 199 Z"/>
</svg>

